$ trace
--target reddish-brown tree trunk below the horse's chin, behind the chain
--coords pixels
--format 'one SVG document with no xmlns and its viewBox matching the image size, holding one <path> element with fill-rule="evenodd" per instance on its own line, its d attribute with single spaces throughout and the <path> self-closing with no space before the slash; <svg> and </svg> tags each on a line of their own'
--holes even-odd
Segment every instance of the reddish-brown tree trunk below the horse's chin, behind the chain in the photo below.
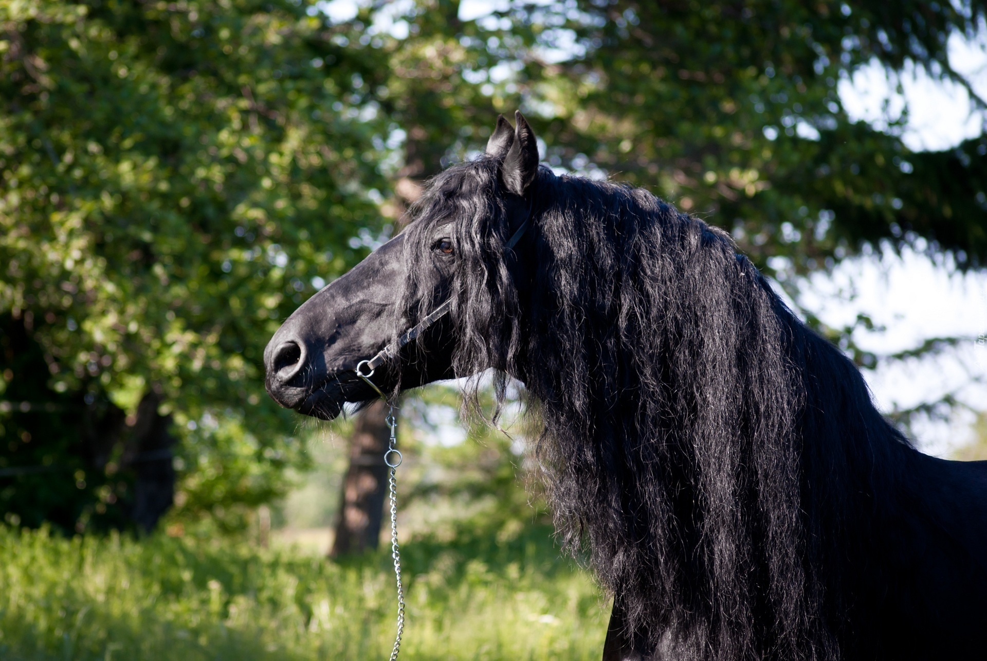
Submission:
<svg viewBox="0 0 987 661">
<path fill-rule="evenodd" d="M 331 557 L 377 548 L 387 496 L 384 451 L 389 437 L 387 404 L 374 402 L 353 425 Z"/>
</svg>

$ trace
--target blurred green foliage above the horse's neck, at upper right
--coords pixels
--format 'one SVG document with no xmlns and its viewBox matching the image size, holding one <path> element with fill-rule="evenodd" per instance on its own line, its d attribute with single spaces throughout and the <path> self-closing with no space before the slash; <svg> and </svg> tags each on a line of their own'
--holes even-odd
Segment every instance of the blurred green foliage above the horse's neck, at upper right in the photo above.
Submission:
<svg viewBox="0 0 987 661">
<path fill-rule="evenodd" d="M 396 13 L 359 20 L 378 9 Z M 976 33 L 981 0 L 512 3 L 465 23 L 455 9 L 422 0 L 401 15 L 409 37 L 372 41 L 390 53 L 372 89 L 408 129 L 413 176 L 482 149 L 489 108 L 520 106 L 554 166 L 648 187 L 780 278 L 884 241 L 987 260 L 987 142 L 913 153 L 851 123 L 836 89 L 872 61 L 968 88 L 946 44 Z"/>
</svg>

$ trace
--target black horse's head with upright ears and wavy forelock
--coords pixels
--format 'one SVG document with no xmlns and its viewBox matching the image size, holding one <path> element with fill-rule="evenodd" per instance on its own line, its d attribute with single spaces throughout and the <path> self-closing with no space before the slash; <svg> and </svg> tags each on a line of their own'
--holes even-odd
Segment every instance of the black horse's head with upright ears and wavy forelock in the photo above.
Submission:
<svg viewBox="0 0 987 661">
<path fill-rule="evenodd" d="M 377 390 L 466 375 L 454 366 L 456 331 L 464 321 L 457 314 L 456 294 L 466 289 L 460 281 L 478 273 L 515 283 L 530 278 L 522 259 L 529 249 L 522 245 L 509 246 L 511 259 L 498 260 L 503 273 L 484 273 L 491 270 L 485 251 L 504 250 L 507 233 L 516 233 L 531 210 L 538 147 L 520 113 L 516 124 L 499 117 L 481 159 L 485 163 L 453 168 L 432 180 L 405 231 L 285 320 L 264 354 L 266 388 L 275 401 L 332 420 L 343 403 L 367 401 Z M 495 176 L 484 176 L 491 173 Z M 457 222 L 463 214 L 488 217 L 466 225 Z M 433 314 L 438 308 L 452 314 Z M 368 382 L 356 371 L 375 356 L 380 358 Z M 361 371 L 366 375 L 370 369 Z"/>
</svg>

